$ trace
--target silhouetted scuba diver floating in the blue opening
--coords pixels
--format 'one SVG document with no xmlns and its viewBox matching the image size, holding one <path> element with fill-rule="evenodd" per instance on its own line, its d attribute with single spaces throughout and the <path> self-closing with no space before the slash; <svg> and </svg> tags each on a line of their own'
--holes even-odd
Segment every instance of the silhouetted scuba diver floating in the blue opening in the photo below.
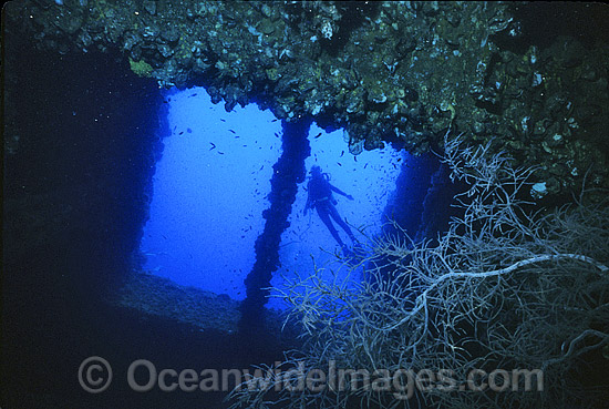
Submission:
<svg viewBox="0 0 609 409">
<path fill-rule="evenodd" d="M 337 204 L 337 200 L 332 196 L 332 191 L 337 192 L 340 195 L 343 195 L 350 201 L 353 200 L 353 196 L 348 195 L 340 188 L 331 185 L 329 180 L 330 176 L 327 173 L 321 173 L 321 167 L 316 165 L 311 168 L 311 180 L 309 181 L 308 185 L 309 198 L 307 200 L 307 204 L 304 205 L 303 213 L 307 214 L 307 211 L 309 208 L 317 208 L 319 217 L 326 224 L 326 226 L 332 234 L 332 237 L 334 237 L 334 239 L 338 242 L 344 253 L 350 253 L 342 239 L 340 238 L 339 232 L 337 232 L 337 229 L 334 228 L 334 225 L 332 224 L 330 217 L 332 217 L 334 222 L 339 226 L 341 226 L 344 232 L 347 232 L 347 234 L 351 238 L 351 242 L 353 242 L 353 245 L 355 245 L 358 243 L 355 236 L 353 236 L 353 233 L 340 216 L 339 211 L 337 211 L 337 207 L 334 207 L 334 205 Z"/>
</svg>

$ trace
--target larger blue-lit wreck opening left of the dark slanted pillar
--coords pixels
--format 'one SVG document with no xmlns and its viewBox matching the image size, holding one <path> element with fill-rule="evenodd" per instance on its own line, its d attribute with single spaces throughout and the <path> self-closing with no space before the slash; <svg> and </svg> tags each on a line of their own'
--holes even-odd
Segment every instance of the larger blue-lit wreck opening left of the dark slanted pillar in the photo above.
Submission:
<svg viewBox="0 0 609 409">
<path fill-rule="evenodd" d="M 169 135 L 153 176 L 143 269 L 234 299 L 264 229 L 280 122 L 256 105 L 226 112 L 203 88 L 165 92 Z"/>
</svg>

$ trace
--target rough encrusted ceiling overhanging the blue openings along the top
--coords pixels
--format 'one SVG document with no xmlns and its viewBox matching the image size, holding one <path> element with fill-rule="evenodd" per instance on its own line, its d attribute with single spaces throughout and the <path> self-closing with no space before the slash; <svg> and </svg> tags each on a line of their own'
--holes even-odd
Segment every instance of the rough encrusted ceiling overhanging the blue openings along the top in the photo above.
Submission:
<svg viewBox="0 0 609 409">
<path fill-rule="evenodd" d="M 561 4 L 557 32 L 541 30 L 550 41 L 530 29 L 547 11 L 512 2 L 11 7 L 12 25 L 41 48 L 117 51 L 159 86 L 204 84 L 227 111 L 256 102 L 286 121 L 344 127 L 355 154 L 391 141 L 413 153 L 442 149 L 451 129 L 473 145 L 495 141 L 493 150 L 517 165 L 538 165 L 537 196 L 570 193 L 586 174 L 593 186 L 609 185 L 609 45 L 560 24 L 593 28 L 607 14 L 602 4 Z"/>
</svg>

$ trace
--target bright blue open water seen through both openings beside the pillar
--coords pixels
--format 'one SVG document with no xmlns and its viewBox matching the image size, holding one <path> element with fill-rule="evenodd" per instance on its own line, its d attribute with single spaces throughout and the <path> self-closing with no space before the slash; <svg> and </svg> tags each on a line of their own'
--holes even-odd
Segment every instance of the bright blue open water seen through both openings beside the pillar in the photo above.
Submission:
<svg viewBox="0 0 609 409">
<path fill-rule="evenodd" d="M 244 278 L 255 263 L 254 244 L 269 207 L 272 165 L 281 153 L 281 122 L 254 104 L 227 113 L 202 88 L 171 90 L 165 99 L 172 133 L 164 140 L 153 180 L 141 245 L 144 269 L 179 285 L 244 299 Z M 364 229 L 365 235 L 355 235 L 365 241 L 386 222 L 382 211 L 395 188 L 401 161 L 409 156 L 386 147 L 354 157 L 343 137 L 342 130 L 326 133 L 313 124 L 307 171 L 321 166 L 333 185 L 354 197 L 334 194 L 341 216 L 354 232 Z M 313 260 L 324 265 L 333 259 L 329 253 L 339 250 L 317 213 L 302 213 L 307 182 L 299 186 L 290 227 L 281 236 L 281 267 L 273 274 L 273 286 L 281 285 L 281 276 L 310 274 Z M 281 305 L 271 299 L 269 306 Z"/>
</svg>

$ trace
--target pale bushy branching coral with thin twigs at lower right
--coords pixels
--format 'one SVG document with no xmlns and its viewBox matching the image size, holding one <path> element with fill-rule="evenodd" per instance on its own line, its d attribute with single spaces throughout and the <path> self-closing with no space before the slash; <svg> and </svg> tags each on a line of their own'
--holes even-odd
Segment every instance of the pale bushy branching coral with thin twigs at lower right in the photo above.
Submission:
<svg viewBox="0 0 609 409">
<path fill-rule="evenodd" d="M 376 237 L 361 265 L 340 267 L 350 268 L 347 278 L 324 280 L 316 268 L 280 289 L 306 339 L 282 366 L 307 376 L 333 365 L 373 381 L 326 382 L 296 393 L 283 388 L 280 367 L 267 368 L 273 372 L 267 388 L 250 379 L 231 393 L 234 408 L 343 408 L 353 400 L 417 407 L 414 399 L 433 408 L 584 408 L 602 401 L 607 385 L 581 375 L 605 359 L 609 344 L 609 206 L 588 203 L 584 191 L 569 206 L 531 213 L 523 193 L 534 170 L 513 168 L 508 157 L 489 155 L 488 145 L 463 147 L 446 136 L 443 161 L 469 188 L 456 197 L 462 217 L 437 241 Z M 365 279 L 350 284 L 362 269 Z M 412 385 L 393 377 L 391 388 L 379 387 L 383 376 L 404 370 L 416 375 L 406 377 Z"/>
</svg>

